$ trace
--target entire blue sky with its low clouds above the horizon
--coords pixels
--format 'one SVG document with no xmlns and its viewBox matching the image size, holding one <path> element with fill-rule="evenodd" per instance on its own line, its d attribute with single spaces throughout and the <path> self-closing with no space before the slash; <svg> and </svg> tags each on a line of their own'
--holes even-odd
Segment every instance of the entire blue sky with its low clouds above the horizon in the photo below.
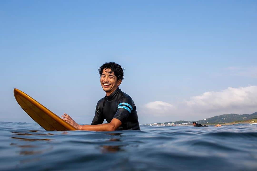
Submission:
<svg viewBox="0 0 257 171">
<path fill-rule="evenodd" d="M 257 111 L 256 1 L 0 1 L 0 21 L 0 121 L 34 122 L 18 88 L 91 123 L 105 62 L 140 124 Z"/>
</svg>

